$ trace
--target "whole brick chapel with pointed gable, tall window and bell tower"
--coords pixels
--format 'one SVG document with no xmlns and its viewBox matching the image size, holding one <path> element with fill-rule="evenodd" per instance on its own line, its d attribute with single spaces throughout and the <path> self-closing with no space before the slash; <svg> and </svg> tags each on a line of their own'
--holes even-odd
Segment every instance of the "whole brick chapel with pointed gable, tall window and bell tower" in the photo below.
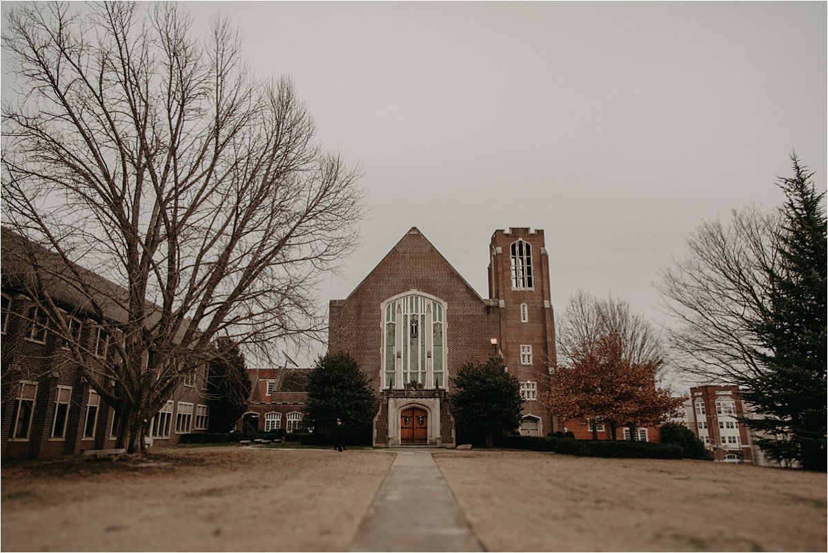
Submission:
<svg viewBox="0 0 828 553">
<path fill-rule="evenodd" d="M 556 363 L 555 318 L 543 231 L 509 228 L 489 243 L 482 298 L 417 228 L 344 300 L 330 301 L 330 353 L 349 353 L 380 397 L 373 445 L 455 445 L 447 403 L 462 365 L 503 356 L 521 383 L 520 431 L 559 422 L 538 402 Z"/>
</svg>

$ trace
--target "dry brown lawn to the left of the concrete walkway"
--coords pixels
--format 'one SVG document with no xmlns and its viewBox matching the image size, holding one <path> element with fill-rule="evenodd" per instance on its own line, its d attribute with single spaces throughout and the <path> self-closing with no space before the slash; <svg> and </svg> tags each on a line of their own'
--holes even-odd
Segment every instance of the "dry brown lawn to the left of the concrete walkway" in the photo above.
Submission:
<svg viewBox="0 0 828 553">
<path fill-rule="evenodd" d="M 2 469 L 2 551 L 343 551 L 394 455 L 160 448 Z"/>
</svg>

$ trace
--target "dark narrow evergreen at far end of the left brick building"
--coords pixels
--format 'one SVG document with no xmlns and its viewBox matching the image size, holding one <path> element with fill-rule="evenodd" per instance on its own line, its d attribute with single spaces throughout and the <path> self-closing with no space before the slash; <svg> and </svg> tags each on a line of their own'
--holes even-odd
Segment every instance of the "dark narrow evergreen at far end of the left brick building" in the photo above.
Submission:
<svg viewBox="0 0 828 553">
<path fill-rule="evenodd" d="M 247 410 L 253 384 L 238 344 L 222 337 L 216 340 L 215 350 L 208 368 L 208 428 L 210 432 L 229 432 Z"/>
</svg>

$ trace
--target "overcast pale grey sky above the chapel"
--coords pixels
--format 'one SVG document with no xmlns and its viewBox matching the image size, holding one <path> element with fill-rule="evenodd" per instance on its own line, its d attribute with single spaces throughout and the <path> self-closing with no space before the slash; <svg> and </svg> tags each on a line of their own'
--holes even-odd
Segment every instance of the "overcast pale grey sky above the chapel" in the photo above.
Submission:
<svg viewBox="0 0 828 553">
<path fill-rule="evenodd" d="M 825 187 L 825 2 L 187 6 L 229 14 L 363 167 L 363 244 L 323 301 L 412 226 L 486 297 L 491 234 L 527 226 L 559 317 L 583 288 L 658 321 L 652 285 L 702 219 L 780 204 L 792 149 Z"/>
</svg>

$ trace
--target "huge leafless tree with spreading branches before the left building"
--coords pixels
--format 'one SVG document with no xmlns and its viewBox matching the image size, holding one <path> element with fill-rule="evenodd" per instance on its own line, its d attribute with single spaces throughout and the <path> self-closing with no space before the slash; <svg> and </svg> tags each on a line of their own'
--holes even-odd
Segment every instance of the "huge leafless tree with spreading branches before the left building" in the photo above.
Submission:
<svg viewBox="0 0 828 553">
<path fill-rule="evenodd" d="M 216 337 L 267 357 L 320 334 L 315 285 L 358 238 L 358 174 L 320 150 L 289 79 L 244 66 L 226 20 L 199 39 L 175 2 L 34 2 L 2 47 L 4 223 L 55 252 L 31 248 L 26 286 L 121 413 L 119 445 L 143 447 Z M 55 289 L 112 337 L 99 373 Z"/>
</svg>

